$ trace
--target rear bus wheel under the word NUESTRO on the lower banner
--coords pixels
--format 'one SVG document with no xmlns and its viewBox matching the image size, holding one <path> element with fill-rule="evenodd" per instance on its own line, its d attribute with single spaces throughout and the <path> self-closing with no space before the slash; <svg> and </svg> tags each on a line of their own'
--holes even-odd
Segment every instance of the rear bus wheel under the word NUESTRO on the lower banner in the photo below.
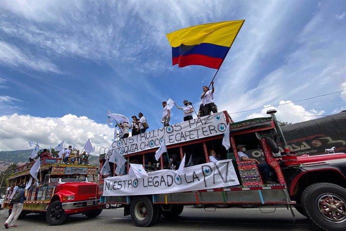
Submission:
<svg viewBox="0 0 346 231">
<path fill-rule="evenodd" d="M 130 213 L 132 222 L 139 227 L 147 227 L 153 222 L 154 206 L 148 197 L 136 196 L 131 202 Z"/>
</svg>

